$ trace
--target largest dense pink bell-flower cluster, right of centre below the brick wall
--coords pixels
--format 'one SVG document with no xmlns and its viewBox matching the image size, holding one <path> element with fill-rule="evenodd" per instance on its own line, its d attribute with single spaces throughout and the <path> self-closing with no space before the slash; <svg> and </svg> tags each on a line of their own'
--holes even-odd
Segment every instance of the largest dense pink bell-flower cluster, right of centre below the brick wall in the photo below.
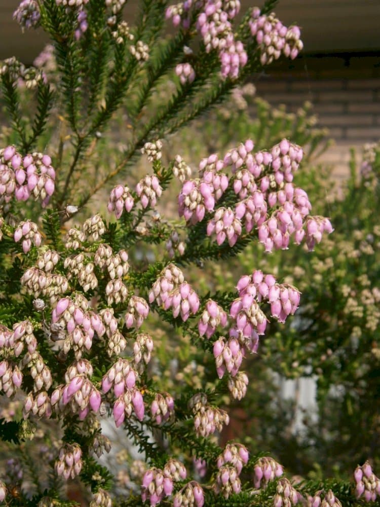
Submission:
<svg viewBox="0 0 380 507">
<path fill-rule="evenodd" d="M 234 210 L 218 208 L 208 222 L 207 234 L 214 236 L 218 244 L 227 239 L 233 246 L 244 225 L 247 233 L 257 227 L 265 251 L 286 249 L 292 235 L 296 244 L 305 239 L 312 250 L 321 241 L 323 232 L 329 234 L 333 229 L 327 218 L 309 215 L 311 204 L 307 193 L 292 183 L 302 150 L 287 139 L 269 152 L 253 153 L 253 148 L 253 142 L 247 140 L 227 152 L 222 160 L 216 155 L 202 160 L 202 178 L 184 182 L 178 196 L 179 216 L 184 216 L 188 224 L 201 222 L 229 186 L 229 178 L 220 170 L 231 166 L 233 189 L 242 200 Z"/>
</svg>

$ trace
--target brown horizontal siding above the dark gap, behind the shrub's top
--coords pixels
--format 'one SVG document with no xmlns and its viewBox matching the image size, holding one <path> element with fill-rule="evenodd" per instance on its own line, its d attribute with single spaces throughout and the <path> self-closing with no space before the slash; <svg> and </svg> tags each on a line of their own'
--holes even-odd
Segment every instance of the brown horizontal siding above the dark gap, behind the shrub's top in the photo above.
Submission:
<svg viewBox="0 0 380 507">
<path fill-rule="evenodd" d="M 171 1 L 170 3 L 175 3 Z M 262 6 L 263 0 L 241 0 L 241 12 Z M 30 63 L 46 43 L 42 30 L 20 27 L 12 14 L 20 0 L 0 0 L 0 59 L 15 55 Z M 133 24 L 139 0 L 128 0 L 125 19 Z M 274 8 L 286 25 L 297 23 L 302 29 L 305 52 L 378 50 L 379 0 L 280 0 Z"/>
</svg>

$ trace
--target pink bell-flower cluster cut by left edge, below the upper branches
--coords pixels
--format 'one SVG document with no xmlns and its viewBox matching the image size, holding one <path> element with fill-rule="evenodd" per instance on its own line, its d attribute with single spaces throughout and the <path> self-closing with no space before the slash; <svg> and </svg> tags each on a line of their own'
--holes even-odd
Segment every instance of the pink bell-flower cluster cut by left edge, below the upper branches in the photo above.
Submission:
<svg viewBox="0 0 380 507">
<path fill-rule="evenodd" d="M 49 155 L 34 152 L 22 157 L 14 146 L 0 150 L 0 205 L 12 196 L 26 201 L 30 196 L 46 206 L 54 192 L 55 170 Z"/>
</svg>

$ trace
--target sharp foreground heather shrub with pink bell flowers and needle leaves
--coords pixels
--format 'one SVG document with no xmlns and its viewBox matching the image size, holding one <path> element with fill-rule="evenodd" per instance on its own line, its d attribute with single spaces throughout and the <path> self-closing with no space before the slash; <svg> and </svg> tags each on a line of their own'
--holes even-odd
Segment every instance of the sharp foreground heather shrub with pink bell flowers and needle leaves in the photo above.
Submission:
<svg viewBox="0 0 380 507">
<path fill-rule="evenodd" d="M 0 68 L 10 121 L 0 150 L 0 501 L 75 505 L 76 488 L 91 507 L 374 500 L 367 461 L 356 489 L 291 481 L 269 453 L 220 440 L 229 402 L 249 392 L 244 361 L 270 322 L 300 325 L 300 291 L 255 258 L 232 288 L 207 292 L 193 270 L 228 269 L 258 243 L 312 250 L 333 231 L 293 182 L 302 147 L 287 137 L 255 147 L 247 136 L 198 160 L 196 173 L 180 153 L 162 157 L 168 136 L 264 65 L 295 58 L 299 28 L 279 21 L 273 2 L 238 17 L 240 2 L 144 0 L 133 26 L 124 4 L 23 0 L 15 19 L 52 45 L 31 67 L 12 57 Z M 132 170 L 140 157 L 147 174 Z M 178 219 L 165 202 L 174 178 Z M 104 460 L 110 425 L 128 438 L 124 490 Z"/>
</svg>

